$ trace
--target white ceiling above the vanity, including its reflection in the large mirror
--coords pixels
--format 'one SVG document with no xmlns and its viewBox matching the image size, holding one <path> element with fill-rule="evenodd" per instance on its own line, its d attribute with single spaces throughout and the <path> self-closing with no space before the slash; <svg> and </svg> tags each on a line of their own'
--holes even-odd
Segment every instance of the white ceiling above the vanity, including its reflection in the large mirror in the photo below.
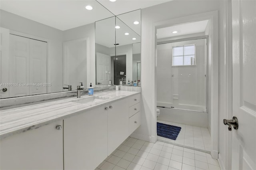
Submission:
<svg viewBox="0 0 256 170">
<path fill-rule="evenodd" d="M 98 1 L 118 15 L 170 0 Z M 0 9 L 64 31 L 113 16 L 101 4 L 96 0 L 0 0 Z M 86 10 L 87 5 L 93 9 Z"/>
</svg>

